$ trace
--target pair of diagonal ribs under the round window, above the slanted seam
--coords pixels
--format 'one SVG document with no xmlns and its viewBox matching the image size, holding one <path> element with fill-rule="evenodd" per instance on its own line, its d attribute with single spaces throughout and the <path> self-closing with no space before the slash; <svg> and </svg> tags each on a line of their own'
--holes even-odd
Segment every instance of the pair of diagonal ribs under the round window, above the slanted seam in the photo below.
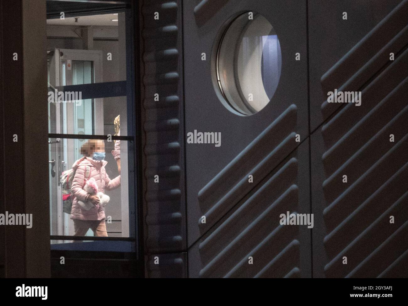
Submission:
<svg viewBox="0 0 408 306">
<path fill-rule="evenodd" d="M 292 104 L 257 136 L 235 159 L 198 193 L 198 201 L 208 222 L 197 220 L 200 231 L 211 227 L 217 216 L 224 215 L 259 183 L 297 145 L 294 132 L 297 107 Z M 248 175 L 254 183 L 248 183 Z"/>
</svg>

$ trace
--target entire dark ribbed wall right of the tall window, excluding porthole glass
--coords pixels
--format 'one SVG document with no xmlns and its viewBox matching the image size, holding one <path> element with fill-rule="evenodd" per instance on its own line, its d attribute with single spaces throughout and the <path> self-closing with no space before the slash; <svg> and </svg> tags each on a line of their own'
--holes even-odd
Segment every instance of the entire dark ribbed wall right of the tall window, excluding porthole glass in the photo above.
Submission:
<svg viewBox="0 0 408 306">
<path fill-rule="evenodd" d="M 191 0 L 183 14 L 181 1 L 146 1 L 147 275 L 187 276 L 188 246 L 190 277 L 310 277 L 312 259 L 314 277 L 407 276 L 408 1 L 362 1 Z M 237 116 L 213 88 L 212 57 L 228 20 L 245 11 L 262 12 L 276 30 L 282 75 L 263 110 Z M 335 88 L 361 90 L 361 106 L 324 102 Z M 186 145 L 184 190 L 183 139 L 194 130 L 222 132 L 222 145 Z M 312 237 L 279 225 L 286 211 L 313 213 Z"/>
</svg>

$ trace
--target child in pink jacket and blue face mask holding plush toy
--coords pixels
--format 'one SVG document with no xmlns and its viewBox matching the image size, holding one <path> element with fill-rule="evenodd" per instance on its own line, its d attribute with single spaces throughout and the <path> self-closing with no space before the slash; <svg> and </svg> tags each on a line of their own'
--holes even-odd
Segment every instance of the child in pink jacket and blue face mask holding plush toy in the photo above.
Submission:
<svg viewBox="0 0 408 306">
<path fill-rule="evenodd" d="M 106 174 L 105 165 L 105 145 L 102 140 L 89 140 L 81 147 L 82 159 L 76 161 L 72 168 L 75 170 L 75 176 L 71 185 L 73 195 L 71 219 L 74 222 L 74 236 L 85 236 L 88 229 L 92 229 L 95 236 L 107 237 L 105 225 L 105 211 L 99 205 L 99 198 L 91 195 L 84 190 L 85 179 L 94 178 L 98 185 L 98 191 L 112 190 L 120 186 L 120 175 L 111 180 Z M 85 175 L 88 174 L 88 177 Z M 78 204 L 91 201 L 94 207 L 89 210 L 82 209 Z"/>
</svg>

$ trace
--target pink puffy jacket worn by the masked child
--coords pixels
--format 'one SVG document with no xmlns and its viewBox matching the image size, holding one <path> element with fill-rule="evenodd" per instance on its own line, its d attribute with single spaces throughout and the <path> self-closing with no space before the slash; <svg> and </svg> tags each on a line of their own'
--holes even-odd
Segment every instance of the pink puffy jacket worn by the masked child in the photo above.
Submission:
<svg viewBox="0 0 408 306">
<path fill-rule="evenodd" d="M 78 204 L 78 200 L 86 202 L 89 196 L 89 193 L 83 189 L 86 166 L 90 167 L 89 177 L 86 179 L 94 178 L 98 184 L 99 192 L 104 192 L 105 189 L 112 190 L 120 186 L 120 175 L 111 180 L 105 171 L 106 164 L 106 161 L 95 161 L 90 157 L 79 159 L 73 164 L 72 169 L 75 170 L 75 176 L 71 185 L 73 195 L 71 219 L 102 220 L 105 218 L 105 211 L 102 206 L 96 205 L 89 210 L 84 210 Z"/>
</svg>

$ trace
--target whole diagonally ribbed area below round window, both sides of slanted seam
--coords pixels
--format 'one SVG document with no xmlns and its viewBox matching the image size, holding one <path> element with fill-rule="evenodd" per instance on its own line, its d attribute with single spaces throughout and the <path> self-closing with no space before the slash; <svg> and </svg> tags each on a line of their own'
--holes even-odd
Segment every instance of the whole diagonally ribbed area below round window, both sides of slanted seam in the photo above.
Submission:
<svg viewBox="0 0 408 306">
<path fill-rule="evenodd" d="M 299 203 L 299 193 L 308 199 L 308 141 L 295 150 L 296 110 L 291 105 L 200 191 L 200 205 L 209 220 L 198 220 L 200 229 L 211 229 L 189 254 L 191 276 L 308 275 L 307 269 L 302 271 L 301 257 L 308 266 L 310 253 L 301 249 L 310 250 L 310 230 L 279 224 L 286 211 L 309 212 L 308 201 Z M 248 182 L 249 174 L 253 183 Z M 223 214 L 219 222 L 212 222 Z M 250 256 L 253 264 L 248 263 Z"/>
</svg>

